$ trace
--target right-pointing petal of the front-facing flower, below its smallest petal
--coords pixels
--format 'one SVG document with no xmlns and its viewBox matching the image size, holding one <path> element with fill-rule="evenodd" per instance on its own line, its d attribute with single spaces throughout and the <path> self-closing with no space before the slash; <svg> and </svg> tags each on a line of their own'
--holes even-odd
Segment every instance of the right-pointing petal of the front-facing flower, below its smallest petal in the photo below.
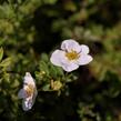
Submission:
<svg viewBox="0 0 121 121">
<path fill-rule="evenodd" d="M 93 60 L 93 58 L 89 54 L 81 54 L 80 58 L 78 59 L 77 63 L 79 65 L 84 65 L 88 64 L 89 62 L 91 62 Z"/>
</svg>

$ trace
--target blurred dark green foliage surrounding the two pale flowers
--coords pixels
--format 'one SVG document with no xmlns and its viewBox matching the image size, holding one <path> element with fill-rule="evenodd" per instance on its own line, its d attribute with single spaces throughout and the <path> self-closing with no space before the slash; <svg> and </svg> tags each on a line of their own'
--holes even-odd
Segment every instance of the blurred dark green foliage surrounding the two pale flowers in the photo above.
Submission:
<svg viewBox="0 0 121 121">
<path fill-rule="evenodd" d="M 49 58 L 70 38 L 93 61 L 65 74 Z M 121 0 L 0 0 L 0 121 L 121 121 Z M 38 97 L 24 112 L 27 71 Z"/>
</svg>

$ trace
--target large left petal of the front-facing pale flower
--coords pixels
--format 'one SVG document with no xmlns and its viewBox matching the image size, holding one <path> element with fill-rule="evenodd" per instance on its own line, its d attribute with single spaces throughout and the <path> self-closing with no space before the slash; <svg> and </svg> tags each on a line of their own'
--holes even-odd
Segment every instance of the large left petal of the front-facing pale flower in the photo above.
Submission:
<svg viewBox="0 0 121 121">
<path fill-rule="evenodd" d="M 56 50 L 56 51 L 53 51 L 53 53 L 51 54 L 50 61 L 51 61 L 54 65 L 61 67 L 61 61 L 65 58 L 64 54 L 65 54 L 64 51 L 62 51 L 62 50 Z"/>
</svg>

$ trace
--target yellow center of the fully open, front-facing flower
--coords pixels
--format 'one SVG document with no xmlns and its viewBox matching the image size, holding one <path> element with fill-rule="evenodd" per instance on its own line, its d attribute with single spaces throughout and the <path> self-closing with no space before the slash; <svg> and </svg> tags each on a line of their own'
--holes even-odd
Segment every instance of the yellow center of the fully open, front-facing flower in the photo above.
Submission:
<svg viewBox="0 0 121 121">
<path fill-rule="evenodd" d="M 67 52 L 65 53 L 65 57 L 71 61 L 71 60 L 77 60 L 80 58 L 80 54 L 74 51 L 74 50 L 71 50 L 70 52 Z"/>
</svg>

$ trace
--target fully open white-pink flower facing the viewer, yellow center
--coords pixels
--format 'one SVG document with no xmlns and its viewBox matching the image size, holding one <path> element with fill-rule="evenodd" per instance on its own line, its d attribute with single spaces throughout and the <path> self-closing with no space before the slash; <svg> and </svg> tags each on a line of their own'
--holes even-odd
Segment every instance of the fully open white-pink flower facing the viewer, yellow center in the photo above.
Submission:
<svg viewBox="0 0 121 121">
<path fill-rule="evenodd" d="M 88 46 L 79 44 L 77 41 L 69 39 L 61 44 L 61 50 L 56 50 L 50 58 L 50 61 L 67 72 L 71 72 L 79 65 L 88 64 L 92 61 Z"/>
</svg>

